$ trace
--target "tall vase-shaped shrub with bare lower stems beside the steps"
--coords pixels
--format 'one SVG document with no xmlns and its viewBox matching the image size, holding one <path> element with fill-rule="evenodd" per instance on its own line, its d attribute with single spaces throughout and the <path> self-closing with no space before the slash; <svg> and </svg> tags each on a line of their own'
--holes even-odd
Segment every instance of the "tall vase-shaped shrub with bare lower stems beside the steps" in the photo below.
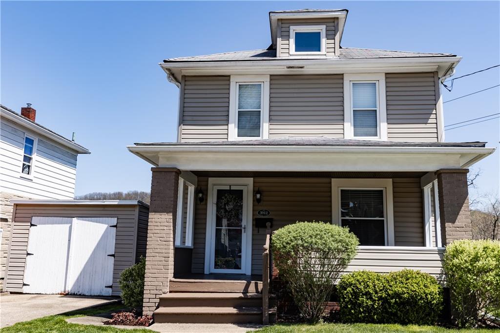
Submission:
<svg viewBox="0 0 500 333">
<path fill-rule="evenodd" d="M 297 222 L 275 231 L 274 263 L 304 319 L 319 321 L 333 284 L 356 255 L 358 243 L 348 229 L 322 222 Z"/>
</svg>

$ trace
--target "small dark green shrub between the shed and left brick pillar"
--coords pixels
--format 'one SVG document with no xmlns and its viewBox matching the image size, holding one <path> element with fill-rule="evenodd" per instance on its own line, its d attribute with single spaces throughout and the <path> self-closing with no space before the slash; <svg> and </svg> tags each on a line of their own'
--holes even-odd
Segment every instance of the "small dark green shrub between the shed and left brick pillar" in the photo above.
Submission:
<svg viewBox="0 0 500 333">
<path fill-rule="evenodd" d="M 118 283 L 121 289 L 121 300 L 126 306 L 142 307 L 145 269 L 146 259 L 140 257 L 136 264 L 121 272 Z"/>
</svg>

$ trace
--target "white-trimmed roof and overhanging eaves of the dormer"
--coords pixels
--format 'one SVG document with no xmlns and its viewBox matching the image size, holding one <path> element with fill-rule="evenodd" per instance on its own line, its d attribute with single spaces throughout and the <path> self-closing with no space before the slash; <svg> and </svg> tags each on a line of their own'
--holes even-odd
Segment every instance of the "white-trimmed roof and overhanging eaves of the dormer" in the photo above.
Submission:
<svg viewBox="0 0 500 333">
<path fill-rule="evenodd" d="M 271 45 L 276 49 L 278 19 L 283 18 L 331 18 L 338 17 L 339 43 L 342 40 L 347 9 L 297 9 L 269 11 L 269 24 L 271 27 Z"/>
</svg>

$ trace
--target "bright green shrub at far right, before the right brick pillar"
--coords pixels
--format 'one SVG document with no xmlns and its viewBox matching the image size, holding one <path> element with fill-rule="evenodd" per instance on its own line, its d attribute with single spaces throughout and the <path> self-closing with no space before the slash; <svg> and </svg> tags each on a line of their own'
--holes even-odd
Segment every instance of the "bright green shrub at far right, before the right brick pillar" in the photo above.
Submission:
<svg viewBox="0 0 500 333">
<path fill-rule="evenodd" d="M 500 241 L 454 241 L 446 246 L 443 269 L 460 327 L 500 312 Z"/>
</svg>

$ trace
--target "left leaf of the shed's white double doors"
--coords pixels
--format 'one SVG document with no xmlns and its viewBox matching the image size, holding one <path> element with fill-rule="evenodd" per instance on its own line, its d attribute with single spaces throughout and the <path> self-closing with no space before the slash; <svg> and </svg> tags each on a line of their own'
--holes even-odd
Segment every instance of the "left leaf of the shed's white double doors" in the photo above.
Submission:
<svg viewBox="0 0 500 333">
<path fill-rule="evenodd" d="M 29 228 L 23 292 L 59 293 L 66 283 L 71 217 L 33 217 Z"/>
</svg>

